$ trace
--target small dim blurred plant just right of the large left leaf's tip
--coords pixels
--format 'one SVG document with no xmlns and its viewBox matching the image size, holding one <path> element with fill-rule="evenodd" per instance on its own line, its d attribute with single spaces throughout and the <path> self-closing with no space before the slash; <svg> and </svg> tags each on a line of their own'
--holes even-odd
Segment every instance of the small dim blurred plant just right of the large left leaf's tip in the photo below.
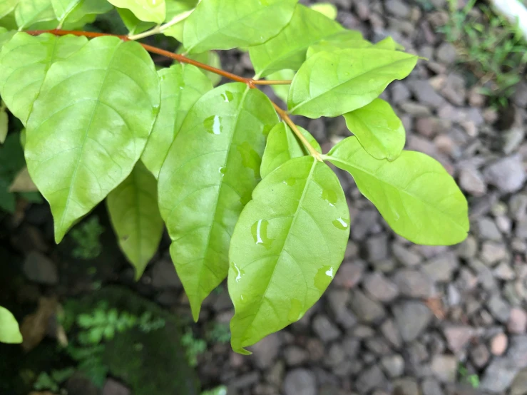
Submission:
<svg viewBox="0 0 527 395">
<path fill-rule="evenodd" d="M 103 246 L 100 239 L 103 232 L 104 227 L 95 215 L 78 225 L 71 231 L 71 237 L 76 244 L 71 255 L 81 260 L 93 260 L 101 255 Z"/>
</svg>

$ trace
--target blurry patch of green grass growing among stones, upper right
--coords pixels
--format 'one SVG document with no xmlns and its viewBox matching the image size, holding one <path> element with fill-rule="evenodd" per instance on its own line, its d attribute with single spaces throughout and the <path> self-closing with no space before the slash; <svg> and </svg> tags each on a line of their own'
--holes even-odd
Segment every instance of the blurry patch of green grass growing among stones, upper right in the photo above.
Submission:
<svg viewBox="0 0 527 395">
<path fill-rule="evenodd" d="M 476 6 L 476 1 L 469 0 L 459 9 L 458 0 L 450 0 L 450 18 L 441 31 L 479 78 L 482 92 L 506 106 L 524 78 L 527 42 L 518 26 L 484 4 Z"/>
</svg>

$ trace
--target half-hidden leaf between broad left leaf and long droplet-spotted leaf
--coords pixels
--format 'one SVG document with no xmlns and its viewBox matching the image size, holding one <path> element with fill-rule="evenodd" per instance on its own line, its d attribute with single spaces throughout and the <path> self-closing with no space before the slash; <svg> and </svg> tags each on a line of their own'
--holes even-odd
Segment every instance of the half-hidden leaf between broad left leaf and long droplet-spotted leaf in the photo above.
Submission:
<svg viewBox="0 0 527 395">
<path fill-rule="evenodd" d="M 207 76 L 195 66 L 175 64 L 158 71 L 158 75 L 161 107 L 141 157 L 156 178 L 188 111 L 213 88 Z"/>
</svg>

